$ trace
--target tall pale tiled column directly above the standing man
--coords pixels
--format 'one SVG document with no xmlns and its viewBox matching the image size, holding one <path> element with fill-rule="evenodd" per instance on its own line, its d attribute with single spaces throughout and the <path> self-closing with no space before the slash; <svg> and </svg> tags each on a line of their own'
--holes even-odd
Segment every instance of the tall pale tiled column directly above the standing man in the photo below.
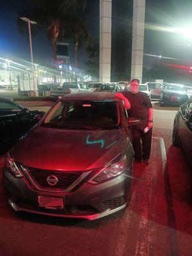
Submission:
<svg viewBox="0 0 192 256">
<path fill-rule="evenodd" d="M 131 79 L 138 78 L 140 83 L 143 75 L 144 29 L 145 0 L 133 0 Z"/>
</svg>

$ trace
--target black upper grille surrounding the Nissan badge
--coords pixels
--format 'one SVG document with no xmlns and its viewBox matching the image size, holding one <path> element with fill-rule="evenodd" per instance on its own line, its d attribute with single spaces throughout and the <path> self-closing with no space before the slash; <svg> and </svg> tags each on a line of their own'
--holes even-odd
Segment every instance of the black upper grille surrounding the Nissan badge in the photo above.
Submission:
<svg viewBox="0 0 192 256">
<path fill-rule="evenodd" d="M 67 189 L 70 187 L 83 172 L 56 172 L 49 170 L 40 170 L 35 168 L 28 168 L 29 175 L 33 178 L 35 183 L 42 188 L 60 188 Z M 47 182 L 47 177 L 54 175 L 58 182 L 52 186 Z"/>
</svg>

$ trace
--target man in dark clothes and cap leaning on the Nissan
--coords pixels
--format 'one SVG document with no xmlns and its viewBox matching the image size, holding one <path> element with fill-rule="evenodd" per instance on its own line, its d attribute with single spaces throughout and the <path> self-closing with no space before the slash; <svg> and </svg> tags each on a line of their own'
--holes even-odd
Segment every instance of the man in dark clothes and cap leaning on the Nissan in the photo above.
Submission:
<svg viewBox="0 0 192 256">
<path fill-rule="evenodd" d="M 136 117 L 141 120 L 140 124 L 132 129 L 132 146 L 135 152 L 135 161 L 138 163 L 143 161 L 143 163 L 148 164 L 152 142 L 153 108 L 147 93 L 139 92 L 139 88 L 140 80 L 132 79 L 131 91 L 118 92 L 115 97 L 124 100 L 129 117 Z M 146 127 L 149 130 L 144 132 Z"/>
</svg>

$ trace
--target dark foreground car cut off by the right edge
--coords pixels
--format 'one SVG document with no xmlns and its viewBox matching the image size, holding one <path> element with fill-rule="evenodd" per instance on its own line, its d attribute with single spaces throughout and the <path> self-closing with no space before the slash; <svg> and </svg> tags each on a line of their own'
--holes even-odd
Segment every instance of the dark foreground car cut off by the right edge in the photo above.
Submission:
<svg viewBox="0 0 192 256">
<path fill-rule="evenodd" d="M 192 96 L 188 102 L 180 106 L 173 124 L 173 146 L 180 147 L 184 151 L 192 170 Z M 192 198 L 192 179 L 191 179 Z"/>
</svg>

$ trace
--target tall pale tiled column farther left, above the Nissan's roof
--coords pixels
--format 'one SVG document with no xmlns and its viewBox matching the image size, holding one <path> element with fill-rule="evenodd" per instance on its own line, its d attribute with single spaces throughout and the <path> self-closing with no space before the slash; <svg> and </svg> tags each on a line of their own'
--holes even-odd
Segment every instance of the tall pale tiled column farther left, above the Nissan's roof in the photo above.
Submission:
<svg viewBox="0 0 192 256">
<path fill-rule="evenodd" d="M 111 81 L 111 3 L 100 0 L 99 81 Z"/>
</svg>

